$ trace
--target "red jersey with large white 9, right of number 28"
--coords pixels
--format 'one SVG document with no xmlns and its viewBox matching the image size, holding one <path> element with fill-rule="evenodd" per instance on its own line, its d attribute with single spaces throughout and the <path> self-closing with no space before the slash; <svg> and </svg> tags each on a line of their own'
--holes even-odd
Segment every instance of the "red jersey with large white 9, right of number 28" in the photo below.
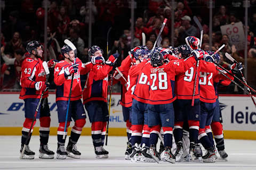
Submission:
<svg viewBox="0 0 256 170">
<path fill-rule="evenodd" d="M 184 60 L 184 59 L 181 59 Z M 198 67 L 198 77 L 199 72 L 213 72 L 215 69 L 215 65 L 213 63 L 205 62 L 200 60 Z M 194 92 L 194 84 L 195 84 L 195 75 L 196 75 L 196 64 L 189 67 L 185 73 L 178 74 L 175 78 L 175 94 L 178 99 L 192 99 Z M 197 82 L 195 98 L 199 99 L 199 84 Z"/>
</svg>

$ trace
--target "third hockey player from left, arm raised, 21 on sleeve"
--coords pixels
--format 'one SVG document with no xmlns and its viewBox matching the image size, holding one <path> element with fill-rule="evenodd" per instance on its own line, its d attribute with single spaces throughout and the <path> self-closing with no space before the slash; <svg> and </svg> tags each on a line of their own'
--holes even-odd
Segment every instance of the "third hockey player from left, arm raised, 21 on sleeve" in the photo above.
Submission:
<svg viewBox="0 0 256 170">
<path fill-rule="evenodd" d="M 90 47 L 88 54 L 94 64 L 87 75 L 83 91 L 83 104 L 92 123 L 92 142 L 96 158 L 108 158 L 108 151 L 103 148 L 106 125 L 109 119 L 107 106 L 108 74 L 119 54 L 110 55 L 105 62 L 102 49 Z"/>
</svg>

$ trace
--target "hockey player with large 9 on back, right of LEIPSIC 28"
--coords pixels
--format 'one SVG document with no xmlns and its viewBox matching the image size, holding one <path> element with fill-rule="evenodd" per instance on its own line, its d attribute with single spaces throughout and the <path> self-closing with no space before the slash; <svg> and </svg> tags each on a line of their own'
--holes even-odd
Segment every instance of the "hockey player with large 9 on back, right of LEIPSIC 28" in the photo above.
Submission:
<svg viewBox="0 0 256 170">
<path fill-rule="evenodd" d="M 185 50 L 181 51 L 185 52 Z M 188 48 L 186 48 L 189 51 Z M 202 50 L 193 50 L 193 55 L 198 57 L 204 57 L 204 52 Z M 184 54 L 185 55 L 185 54 Z M 186 57 L 187 55 L 185 55 Z M 182 59 L 186 60 L 186 59 Z M 206 63 L 204 61 L 199 62 L 198 71 L 213 72 L 215 66 L 212 63 Z M 200 121 L 200 101 L 199 101 L 199 85 L 197 79 L 197 86 L 195 89 L 195 102 L 194 106 L 191 106 L 191 101 L 193 98 L 194 84 L 195 84 L 195 74 L 196 65 L 189 67 L 185 73 L 178 74 L 175 78 L 175 94 L 177 95 L 177 100 L 174 101 L 175 110 L 175 123 L 174 123 L 174 138 L 177 144 L 177 151 L 175 156 L 177 156 L 177 161 L 183 159 L 183 147 L 182 147 L 182 132 L 183 132 L 183 122 L 188 121 L 189 125 L 189 140 L 190 140 L 190 157 L 194 161 L 196 157 L 201 157 L 201 152 L 197 154 L 196 142 L 198 138 L 199 121 Z M 200 149 L 200 148 L 199 148 Z M 186 155 L 184 155 L 186 156 Z"/>
</svg>

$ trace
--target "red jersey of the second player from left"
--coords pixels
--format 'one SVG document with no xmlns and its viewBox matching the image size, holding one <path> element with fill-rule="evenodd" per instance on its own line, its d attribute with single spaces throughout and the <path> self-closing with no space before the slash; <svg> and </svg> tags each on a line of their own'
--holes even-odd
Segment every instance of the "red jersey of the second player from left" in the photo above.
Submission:
<svg viewBox="0 0 256 170">
<path fill-rule="evenodd" d="M 92 63 L 83 64 L 82 61 L 79 60 L 79 58 L 76 59 L 76 63 L 79 65 L 78 65 L 78 72 L 74 74 L 73 86 L 72 86 L 72 92 L 71 92 L 71 98 L 70 98 L 71 101 L 82 98 L 80 74 L 86 74 L 91 70 L 93 66 Z M 64 70 L 66 69 L 66 67 L 70 66 L 71 64 L 65 60 L 62 60 L 59 63 L 57 63 L 54 67 L 54 83 L 57 86 L 56 101 L 68 100 L 69 98 L 72 75 L 69 75 L 69 77 L 66 79 Z"/>
</svg>

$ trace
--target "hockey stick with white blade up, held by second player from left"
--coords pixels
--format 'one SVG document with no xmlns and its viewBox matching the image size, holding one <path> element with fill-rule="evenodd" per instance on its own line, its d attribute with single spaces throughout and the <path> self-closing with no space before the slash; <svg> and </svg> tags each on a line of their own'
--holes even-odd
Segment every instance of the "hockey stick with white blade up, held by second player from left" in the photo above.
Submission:
<svg viewBox="0 0 256 170">
<path fill-rule="evenodd" d="M 77 49 L 76 47 L 74 46 L 73 43 L 71 43 L 71 41 L 69 41 L 68 39 L 65 39 L 64 40 L 64 43 L 67 44 L 71 49 L 74 50 L 75 52 L 75 60 L 74 60 L 74 63 L 76 63 L 76 52 L 77 52 Z M 65 139 L 66 138 L 66 131 L 67 131 L 67 121 L 68 121 L 68 112 L 69 112 L 69 105 L 70 105 L 70 100 L 71 100 L 71 93 L 72 93 L 72 87 L 73 87 L 73 81 L 74 81 L 74 74 L 72 74 L 72 77 L 71 77 L 71 84 L 70 84 L 70 90 L 69 90 L 69 95 L 68 95 L 68 107 L 67 107 L 67 112 L 66 112 L 66 118 L 65 118 L 65 127 L 64 127 L 64 133 L 63 133 L 63 137 L 62 139 Z"/>
</svg>

